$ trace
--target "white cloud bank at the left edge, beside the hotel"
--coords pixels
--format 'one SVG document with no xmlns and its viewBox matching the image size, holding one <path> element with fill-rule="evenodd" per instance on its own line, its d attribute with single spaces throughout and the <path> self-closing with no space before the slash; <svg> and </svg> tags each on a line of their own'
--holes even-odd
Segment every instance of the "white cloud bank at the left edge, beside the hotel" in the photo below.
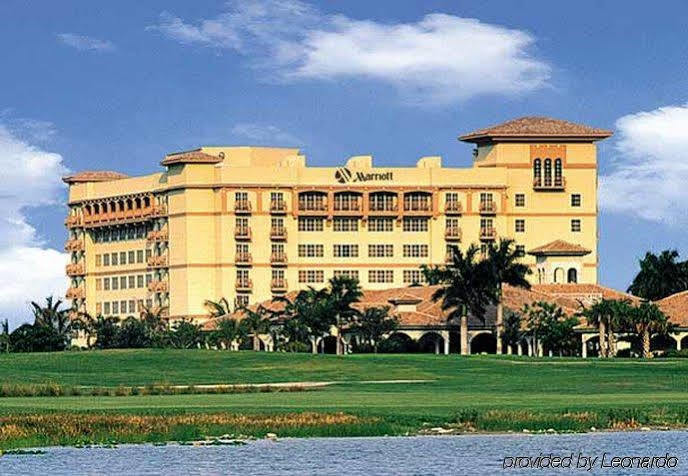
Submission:
<svg viewBox="0 0 688 476">
<path fill-rule="evenodd" d="M 29 301 L 62 296 L 67 287 L 67 255 L 45 247 L 24 215 L 29 207 L 62 202 L 60 177 L 67 169 L 59 154 L 29 144 L 0 124 L 0 170 L 0 319 L 16 326 L 29 318 Z"/>
</svg>

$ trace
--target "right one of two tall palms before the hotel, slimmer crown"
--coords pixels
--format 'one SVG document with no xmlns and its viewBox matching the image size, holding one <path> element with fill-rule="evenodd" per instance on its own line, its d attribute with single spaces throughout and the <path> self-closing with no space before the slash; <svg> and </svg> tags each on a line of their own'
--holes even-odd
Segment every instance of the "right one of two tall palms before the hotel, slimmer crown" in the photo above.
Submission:
<svg viewBox="0 0 688 476">
<path fill-rule="evenodd" d="M 516 250 L 515 241 L 500 239 L 488 248 L 487 261 L 490 263 L 495 279 L 495 296 L 497 305 L 497 354 L 502 353 L 502 332 L 504 328 L 504 305 L 502 304 L 502 290 L 504 284 L 530 289 L 526 279 L 531 273 L 530 268 L 520 262 L 520 254 Z"/>
</svg>

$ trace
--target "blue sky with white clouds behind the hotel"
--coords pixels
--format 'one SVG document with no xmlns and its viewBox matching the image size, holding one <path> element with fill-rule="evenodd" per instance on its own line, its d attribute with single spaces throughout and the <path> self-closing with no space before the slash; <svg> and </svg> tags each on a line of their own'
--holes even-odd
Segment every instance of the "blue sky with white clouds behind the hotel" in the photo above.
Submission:
<svg viewBox="0 0 688 476">
<path fill-rule="evenodd" d="M 688 257 L 688 2 L 0 2 L 0 318 L 62 294 L 70 171 L 159 170 L 199 145 L 298 146 L 311 165 L 441 155 L 526 115 L 599 143 L 600 282 Z"/>
</svg>

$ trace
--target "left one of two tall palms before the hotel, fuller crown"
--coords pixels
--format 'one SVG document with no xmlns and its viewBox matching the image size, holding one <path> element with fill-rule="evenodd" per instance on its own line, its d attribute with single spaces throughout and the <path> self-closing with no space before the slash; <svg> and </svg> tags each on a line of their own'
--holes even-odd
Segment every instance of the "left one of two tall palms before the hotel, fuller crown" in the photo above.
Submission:
<svg viewBox="0 0 688 476">
<path fill-rule="evenodd" d="M 468 313 L 485 320 L 485 306 L 494 302 L 494 276 L 487 260 L 478 261 L 480 249 L 470 245 L 465 253 L 455 247 L 452 262 L 443 270 L 442 286 L 432 299 L 442 300 L 449 319 L 461 319 L 461 354 L 468 354 Z"/>
</svg>

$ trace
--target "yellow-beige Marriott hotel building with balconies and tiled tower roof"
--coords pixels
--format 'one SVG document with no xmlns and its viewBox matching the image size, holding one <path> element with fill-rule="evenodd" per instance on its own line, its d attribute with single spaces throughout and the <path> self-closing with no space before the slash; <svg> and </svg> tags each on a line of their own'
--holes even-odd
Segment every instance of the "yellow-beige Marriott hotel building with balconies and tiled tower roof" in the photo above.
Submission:
<svg viewBox="0 0 688 476">
<path fill-rule="evenodd" d="M 453 246 L 516 241 L 534 283 L 597 282 L 596 141 L 611 132 L 524 117 L 460 137 L 473 166 L 440 157 L 310 167 L 298 149 L 200 147 L 140 177 L 69 184 L 67 298 L 124 318 L 142 305 L 207 317 L 206 299 L 250 304 L 348 275 L 364 289 L 421 281 Z"/>
</svg>

